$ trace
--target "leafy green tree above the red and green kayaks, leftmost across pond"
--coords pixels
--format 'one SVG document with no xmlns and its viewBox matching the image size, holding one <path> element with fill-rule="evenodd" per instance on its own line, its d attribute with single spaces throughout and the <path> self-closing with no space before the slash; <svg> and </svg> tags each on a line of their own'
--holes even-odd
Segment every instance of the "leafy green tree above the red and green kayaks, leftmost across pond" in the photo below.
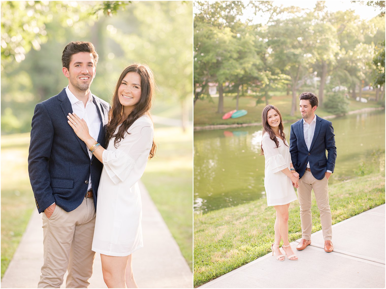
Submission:
<svg viewBox="0 0 386 289">
<path fill-rule="evenodd" d="M 194 21 L 195 101 L 209 82 L 218 83 L 218 113 L 223 113 L 224 85 L 237 92 L 247 83 L 264 79 L 262 56 L 265 50 L 257 26 L 240 20 L 244 9 L 269 7 L 268 2 L 195 2 L 199 11 Z M 235 89 L 234 89 L 235 88 Z"/>
</svg>

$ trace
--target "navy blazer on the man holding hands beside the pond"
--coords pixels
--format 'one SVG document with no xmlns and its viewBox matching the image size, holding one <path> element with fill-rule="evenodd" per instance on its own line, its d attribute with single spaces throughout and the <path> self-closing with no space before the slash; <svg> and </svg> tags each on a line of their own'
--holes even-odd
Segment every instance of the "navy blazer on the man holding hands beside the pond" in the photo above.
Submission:
<svg viewBox="0 0 386 289">
<path fill-rule="evenodd" d="M 306 170 L 307 162 L 315 179 L 321 180 L 327 170 L 334 172 L 337 148 L 332 123 L 316 116 L 315 133 L 310 150 L 307 149 L 303 133 L 303 118 L 291 125 L 289 152 L 293 167 L 301 178 Z M 326 150 L 328 152 L 326 157 Z"/>
</svg>

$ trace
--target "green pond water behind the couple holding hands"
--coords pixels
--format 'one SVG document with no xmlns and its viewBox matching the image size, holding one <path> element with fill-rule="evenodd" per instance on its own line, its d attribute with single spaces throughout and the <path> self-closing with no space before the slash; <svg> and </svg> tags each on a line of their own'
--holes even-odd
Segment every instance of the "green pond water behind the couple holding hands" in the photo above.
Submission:
<svg viewBox="0 0 386 289">
<path fill-rule="evenodd" d="M 330 121 L 337 159 L 329 184 L 355 177 L 369 166 L 384 170 L 384 110 Z M 284 124 L 288 142 L 290 126 Z M 194 132 L 195 213 L 265 198 L 261 137 L 261 126 Z"/>
</svg>

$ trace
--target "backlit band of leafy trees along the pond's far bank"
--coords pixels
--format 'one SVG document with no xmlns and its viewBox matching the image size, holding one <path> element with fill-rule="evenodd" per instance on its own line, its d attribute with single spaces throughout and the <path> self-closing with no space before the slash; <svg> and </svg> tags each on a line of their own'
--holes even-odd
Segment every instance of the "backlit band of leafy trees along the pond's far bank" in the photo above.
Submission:
<svg viewBox="0 0 386 289">
<path fill-rule="evenodd" d="M 318 94 L 322 108 L 324 95 L 333 89 L 356 100 L 374 86 L 376 100 L 384 98 L 384 1 L 361 3 L 379 15 L 362 19 L 350 8 L 332 12 L 324 1 L 308 9 L 275 2 L 196 1 L 195 104 L 211 99 L 209 82 L 217 85 L 218 113 L 223 93 L 236 98 L 238 109 L 239 95 L 255 97 L 258 105 L 286 91 L 291 116 L 305 90 Z"/>
</svg>

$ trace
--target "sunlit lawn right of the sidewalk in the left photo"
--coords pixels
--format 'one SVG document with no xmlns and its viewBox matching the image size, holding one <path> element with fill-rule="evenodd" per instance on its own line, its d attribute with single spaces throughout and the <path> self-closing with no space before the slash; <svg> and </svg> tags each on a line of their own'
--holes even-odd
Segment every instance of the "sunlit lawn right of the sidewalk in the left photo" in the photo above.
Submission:
<svg viewBox="0 0 386 289">
<path fill-rule="evenodd" d="M 156 157 L 147 162 L 142 182 L 193 269 L 193 134 L 162 128 L 154 140 Z"/>
</svg>

